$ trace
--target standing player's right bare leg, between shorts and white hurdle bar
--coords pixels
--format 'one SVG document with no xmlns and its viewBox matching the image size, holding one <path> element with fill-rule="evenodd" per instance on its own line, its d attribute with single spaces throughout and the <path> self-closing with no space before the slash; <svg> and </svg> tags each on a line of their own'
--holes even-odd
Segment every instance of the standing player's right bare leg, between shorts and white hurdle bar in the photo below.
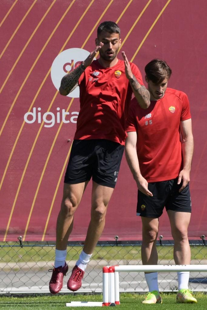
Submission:
<svg viewBox="0 0 207 310">
<path fill-rule="evenodd" d="M 188 265 L 191 262 L 191 249 L 187 236 L 187 229 L 191 218 L 189 212 L 168 210 L 171 232 L 174 239 L 174 260 L 178 265 Z"/>
</svg>

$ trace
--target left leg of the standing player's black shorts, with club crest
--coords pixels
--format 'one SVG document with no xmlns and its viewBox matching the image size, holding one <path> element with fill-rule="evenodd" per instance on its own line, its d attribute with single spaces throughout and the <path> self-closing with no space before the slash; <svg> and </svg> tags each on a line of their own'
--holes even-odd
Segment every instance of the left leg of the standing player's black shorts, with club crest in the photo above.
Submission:
<svg viewBox="0 0 207 310">
<path fill-rule="evenodd" d="M 163 213 L 166 200 L 168 181 L 148 183 L 153 197 L 146 196 L 138 190 L 137 215 L 158 218 Z"/>
</svg>

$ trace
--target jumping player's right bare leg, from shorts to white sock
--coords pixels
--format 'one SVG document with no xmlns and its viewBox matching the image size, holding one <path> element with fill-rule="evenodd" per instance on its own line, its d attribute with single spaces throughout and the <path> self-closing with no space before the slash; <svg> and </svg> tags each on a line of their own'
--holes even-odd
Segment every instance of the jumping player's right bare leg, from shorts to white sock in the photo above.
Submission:
<svg viewBox="0 0 207 310">
<path fill-rule="evenodd" d="M 86 254 L 92 254 L 104 229 L 106 210 L 113 190 L 114 188 L 99 185 L 93 181 L 91 221 L 83 247 Z"/>
</svg>

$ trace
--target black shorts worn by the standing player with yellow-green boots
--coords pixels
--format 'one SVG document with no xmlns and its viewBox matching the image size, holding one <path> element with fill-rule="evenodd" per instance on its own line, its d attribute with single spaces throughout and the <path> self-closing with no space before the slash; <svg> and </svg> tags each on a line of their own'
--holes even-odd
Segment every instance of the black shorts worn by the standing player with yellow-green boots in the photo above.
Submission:
<svg viewBox="0 0 207 310">
<path fill-rule="evenodd" d="M 148 189 L 153 197 L 146 196 L 138 190 L 137 215 L 157 218 L 162 215 L 164 207 L 166 210 L 191 212 L 189 184 L 179 193 L 182 182 L 181 184 L 177 182 L 178 178 L 148 183 Z"/>
</svg>

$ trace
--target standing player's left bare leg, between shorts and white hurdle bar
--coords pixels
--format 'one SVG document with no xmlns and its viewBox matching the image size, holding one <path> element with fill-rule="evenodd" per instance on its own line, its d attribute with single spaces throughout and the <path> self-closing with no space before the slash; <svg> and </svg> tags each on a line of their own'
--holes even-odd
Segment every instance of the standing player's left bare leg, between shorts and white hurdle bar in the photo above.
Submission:
<svg viewBox="0 0 207 310">
<path fill-rule="evenodd" d="M 156 265 L 158 255 L 156 249 L 156 240 L 158 235 L 158 218 L 142 217 L 142 264 Z"/>
</svg>

